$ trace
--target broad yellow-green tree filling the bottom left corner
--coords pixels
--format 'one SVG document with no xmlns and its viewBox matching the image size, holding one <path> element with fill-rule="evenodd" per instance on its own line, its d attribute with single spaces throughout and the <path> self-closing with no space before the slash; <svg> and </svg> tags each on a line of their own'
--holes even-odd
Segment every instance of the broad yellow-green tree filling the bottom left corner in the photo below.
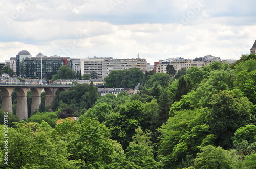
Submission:
<svg viewBox="0 0 256 169">
<path fill-rule="evenodd" d="M 80 160 L 68 160 L 67 142 L 63 142 L 47 122 L 16 123 L 16 128 L 9 128 L 8 136 L 8 168 L 79 167 Z M 4 139 L 2 134 L 0 137 Z M 3 150 L 4 142 L 0 146 Z M 6 165 L 2 162 L 0 167 L 6 168 Z"/>
</svg>

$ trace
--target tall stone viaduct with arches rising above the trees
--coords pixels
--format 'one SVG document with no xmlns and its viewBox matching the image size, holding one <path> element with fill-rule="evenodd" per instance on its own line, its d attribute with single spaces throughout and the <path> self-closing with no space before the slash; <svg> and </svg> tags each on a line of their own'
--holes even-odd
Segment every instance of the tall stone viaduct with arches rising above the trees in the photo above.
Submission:
<svg viewBox="0 0 256 169">
<path fill-rule="evenodd" d="M 41 92 L 46 92 L 45 105 L 50 106 L 57 91 L 67 91 L 73 85 L 0 85 L 2 91 L 2 109 L 12 112 L 12 92 L 17 91 L 16 115 L 20 120 L 28 119 L 27 92 L 32 91 L 31 113 L 39 109 Z"/>
</svg>

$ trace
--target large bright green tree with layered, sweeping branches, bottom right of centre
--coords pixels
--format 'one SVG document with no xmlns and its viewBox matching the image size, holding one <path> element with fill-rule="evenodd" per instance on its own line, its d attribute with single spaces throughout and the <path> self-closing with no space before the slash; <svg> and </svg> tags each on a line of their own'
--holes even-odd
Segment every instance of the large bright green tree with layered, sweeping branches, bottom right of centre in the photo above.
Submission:
<svg viewBox="0 0 256 169">
<path fill-rule="evenodd" d="M 177 111 L 159 128 L 161 135 L 157 151 L 164 168 L 187 167 L 182 166 L 182 162 L 189 155 L 194 158 L 200 147 L 213 144 L 214 136 L 205 125 L 205 116 L 205 109 Z"/>
</svg>

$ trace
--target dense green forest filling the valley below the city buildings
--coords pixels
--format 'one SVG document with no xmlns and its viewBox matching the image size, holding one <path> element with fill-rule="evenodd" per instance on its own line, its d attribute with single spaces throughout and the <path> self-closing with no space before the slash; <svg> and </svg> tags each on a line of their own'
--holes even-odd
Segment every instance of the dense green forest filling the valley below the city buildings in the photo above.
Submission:
<svg viewBox="0 0 256 169">
<path fill-rule="evenodd" d="M 74 85 L 28 121 L 9 113 L 0 167 L 256 168 L 256 55 L 168 72 L 112 71 L 107 87 L 140 83 L 140 92 L 99 96 L 93 83 Z"/>
</svg>

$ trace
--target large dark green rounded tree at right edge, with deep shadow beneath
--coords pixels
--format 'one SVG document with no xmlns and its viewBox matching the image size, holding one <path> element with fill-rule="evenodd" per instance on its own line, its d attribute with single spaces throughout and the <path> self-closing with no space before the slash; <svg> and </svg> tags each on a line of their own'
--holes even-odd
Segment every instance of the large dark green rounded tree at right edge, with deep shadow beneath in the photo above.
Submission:
<svg viewBox="0 0 256 169">
<path fill-rule="evenodd" d="M 234 132 L 246 124 L 255 122 L 254 106 L 236 90 L 220 91 L 210 100 L 208 125 L 217 137 L 216 144 L 231 148 Z"/>
</svg>

